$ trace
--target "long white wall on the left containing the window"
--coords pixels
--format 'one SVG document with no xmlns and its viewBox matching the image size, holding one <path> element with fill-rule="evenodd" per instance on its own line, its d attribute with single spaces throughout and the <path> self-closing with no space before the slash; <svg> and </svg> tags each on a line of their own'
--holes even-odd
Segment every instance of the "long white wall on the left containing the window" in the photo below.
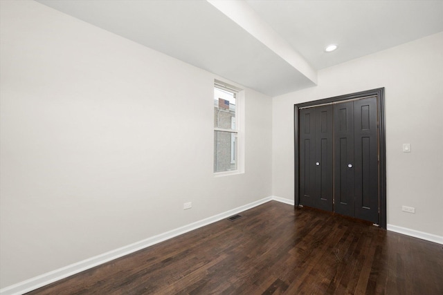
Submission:
<svg viewBox="0 0 443 295">
<path fill-rule="evenodd" d="M 270 97 L 214 178 L 219 77 L 34 1 L 0 20 L 1 287 L 271 196 Z"/>
</svg>

